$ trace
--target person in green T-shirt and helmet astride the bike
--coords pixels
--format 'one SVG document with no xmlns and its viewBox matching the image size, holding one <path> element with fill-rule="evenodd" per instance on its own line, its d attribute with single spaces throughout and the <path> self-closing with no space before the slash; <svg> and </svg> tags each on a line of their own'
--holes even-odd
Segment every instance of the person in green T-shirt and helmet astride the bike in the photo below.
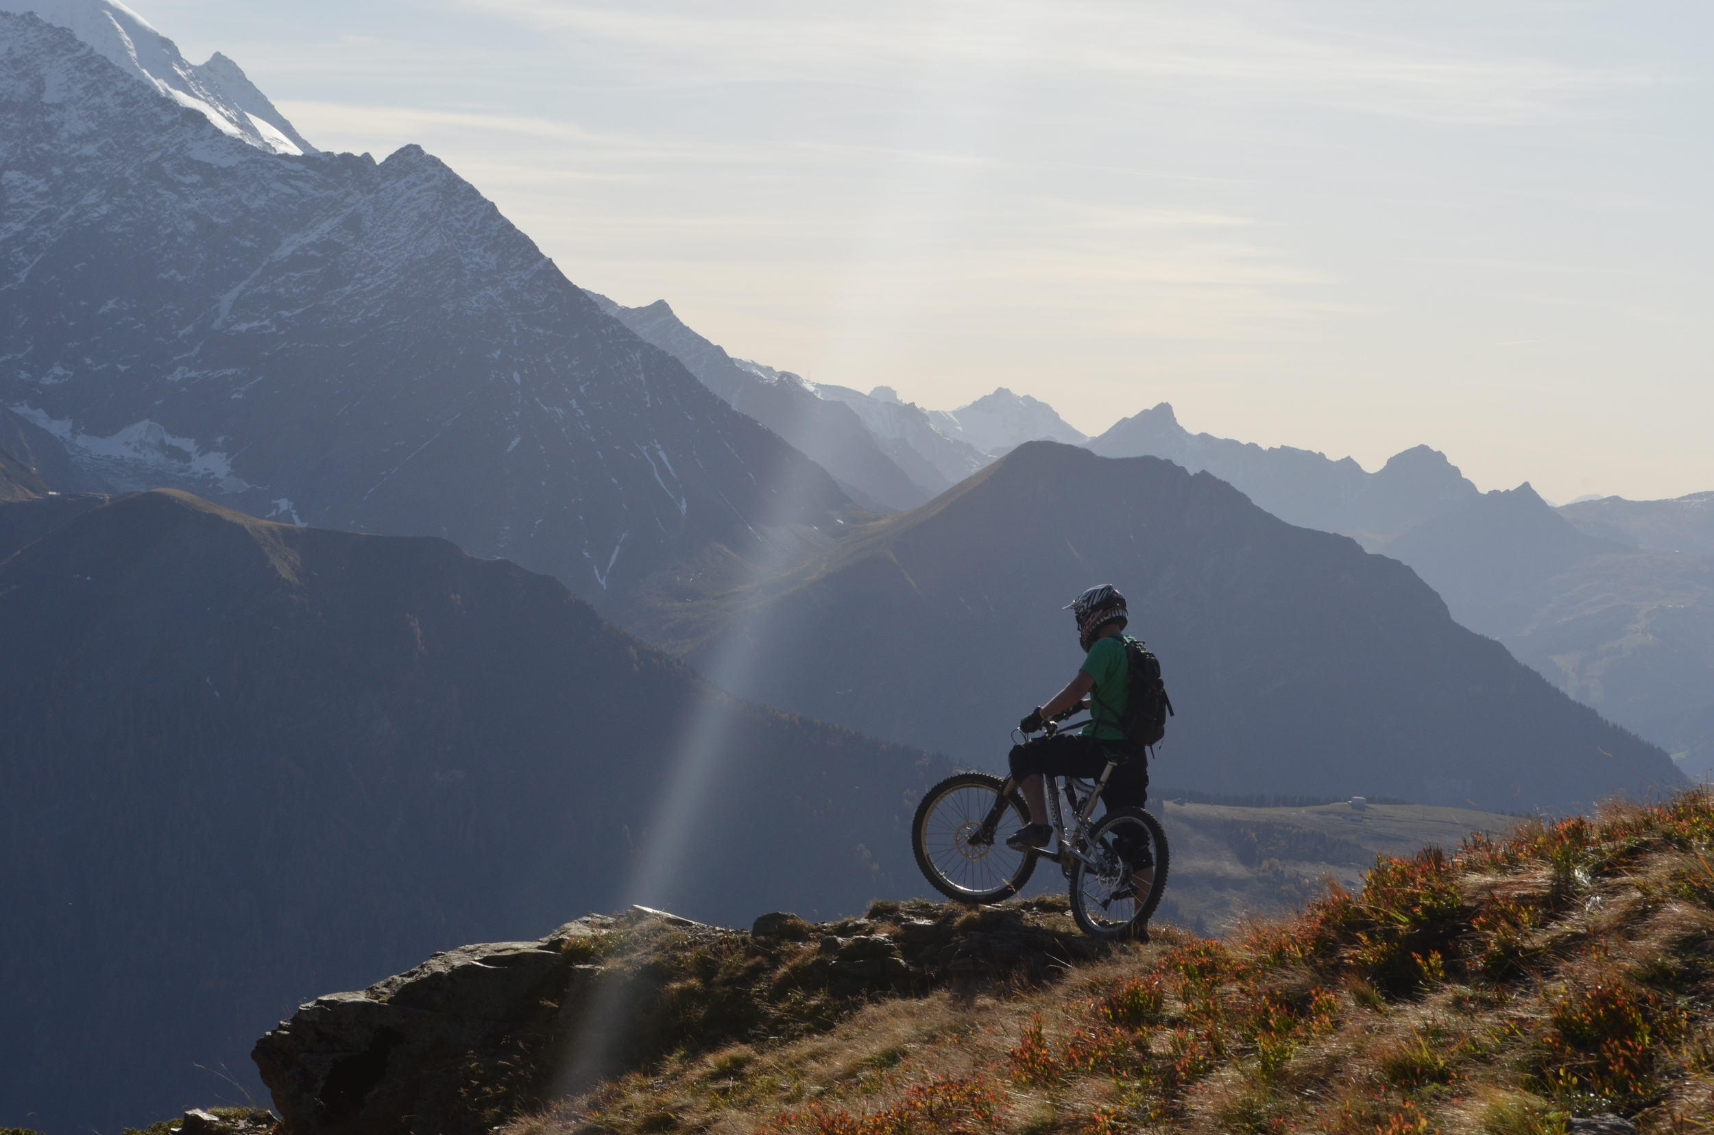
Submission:
<svg viewBox="0 0 1714 1135">
<path fill-rule="evenodd" d="M 1044 777 L 1099 780 L 1107 768 L 1109 751 L 1121 756 L 1121 763 L 1100 794 L 1107 811 L 1142 808 L 1148 801 L 1148 763 L 1143 749 L 1126 741 L 1119 729 L 1131 669 L 1124 650 L 1124 628 L 1130 624 L 1124 597 L 1111 583 L 1104 583 L 1078 595 L 1064 610 L 1076 619 L 1078 645 L 1087 657 L 1076 677 L 1046 705 L 1035 706 L 1018 722 L 1018 729 L 1034 734 L 1047 718 L 1083 708 L 1090 712 L 1092 722 L 1076 734 L 1035 737 L 1011 748 L 1011 777 L 1023 787 L 1023 799 L 1030 806 L 1034 821 L 1006 840 L 1013 850 L 1042 847 L 1052 838 L 1052 826 L 1044 823 L 1047 818 Z M 1140 898 L 1154 883 L 1154 857 L 1147 847 L 1124 850 L 1128 852 L 1124 859 L 1131 864 L 1131 883 Z"/>
</svg>

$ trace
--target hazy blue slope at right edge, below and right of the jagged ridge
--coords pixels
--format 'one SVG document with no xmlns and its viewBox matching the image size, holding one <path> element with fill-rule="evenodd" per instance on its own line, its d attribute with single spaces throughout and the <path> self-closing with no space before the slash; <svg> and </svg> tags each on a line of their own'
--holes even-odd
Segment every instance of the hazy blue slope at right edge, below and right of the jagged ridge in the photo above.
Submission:
<svg viewBox="0 0 1714 1135">
<path fill-rule="evenodd" d="M 1383 547 L 1464 626 L 1570 696 L 1714 772 L 1714 559 L 1579 531 L 1527 483 Z"/>
</svg>

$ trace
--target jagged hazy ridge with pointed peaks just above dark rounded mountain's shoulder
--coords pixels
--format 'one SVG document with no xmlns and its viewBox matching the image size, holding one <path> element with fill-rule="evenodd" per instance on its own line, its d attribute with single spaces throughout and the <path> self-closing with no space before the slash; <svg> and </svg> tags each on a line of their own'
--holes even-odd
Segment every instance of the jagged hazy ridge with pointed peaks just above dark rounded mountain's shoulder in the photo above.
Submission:
<svg viewBox="0 0 1714 1135">
<path fill-rule="evenodd" d="M 1104 458 L 1152 456 L 1193 473 L 1207 470 L 1287 523 L 1339 531 L 1366 547 L 1476 495 L 1476 485 L 1428 446 L 1393 454 L 1369 473 L 1351 458 L 1332 461 L 1291 446 L 1263 449 L 1191 434 L 1167 403 L 1118 422 L 1088 449 Z"/>
</svg>

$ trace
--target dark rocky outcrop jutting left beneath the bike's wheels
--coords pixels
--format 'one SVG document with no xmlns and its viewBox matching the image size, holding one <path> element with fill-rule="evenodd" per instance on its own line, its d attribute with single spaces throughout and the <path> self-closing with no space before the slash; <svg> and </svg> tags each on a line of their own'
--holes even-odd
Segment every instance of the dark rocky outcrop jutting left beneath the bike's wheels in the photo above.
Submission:
<svg viewBox="0 0 1714 1135">
<path fill-rule="evenodd" d="M 634 909 L 317 998 L 252 1058 L 291 1135 L 480 1135 L 672 1051 L 816 1032 L 948 982 L 1049 981 L 1102 950 L 1063 900 L 773 912 L 749 933 Z"/>
</svg>

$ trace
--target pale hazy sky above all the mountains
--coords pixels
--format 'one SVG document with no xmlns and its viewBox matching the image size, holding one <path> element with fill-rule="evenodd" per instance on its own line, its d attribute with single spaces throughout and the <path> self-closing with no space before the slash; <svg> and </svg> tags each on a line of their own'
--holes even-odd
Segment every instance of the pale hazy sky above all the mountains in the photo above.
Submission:
<svg viewBox="0 0 1714 1135">
<path fill-rule="evenodd" d="M 1705 0 L 132 7 L 818 381 L 1714 489 Z"/>
</svg>

